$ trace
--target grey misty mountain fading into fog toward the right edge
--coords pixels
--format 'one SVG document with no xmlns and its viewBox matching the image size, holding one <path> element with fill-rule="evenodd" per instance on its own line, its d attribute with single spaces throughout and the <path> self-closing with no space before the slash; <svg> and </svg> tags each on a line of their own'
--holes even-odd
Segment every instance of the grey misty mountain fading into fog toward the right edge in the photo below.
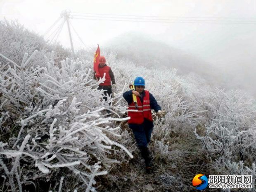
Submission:
<svg viewBox="0 0 256 192">
<path fill-rule="evenodd" d="M 241 57 L 238 61 L 237 57 L 234 57 L 234 52 L 228 52 L 228 50 L 208 62 L 192 53 L 153 40 L 145 34 L 131 32 L 109 40 L 106 47 L 116 52 L 117 58 L 127 59 L 137 66 L 175 68 L 180 75 L 196 73 L 211 85 L 226 89 L 242 89 L 256 95 L 256 90 L 251 83 L 255 79 L 252 73 L 255 71 L 255 66 L 251 67 L 250 58 Z M 241 51 L 236 55 L 246 49 L 242 45 L 239 47 Z M 223 55 L 225 59 L 222 60 Z"/>
</svg>

